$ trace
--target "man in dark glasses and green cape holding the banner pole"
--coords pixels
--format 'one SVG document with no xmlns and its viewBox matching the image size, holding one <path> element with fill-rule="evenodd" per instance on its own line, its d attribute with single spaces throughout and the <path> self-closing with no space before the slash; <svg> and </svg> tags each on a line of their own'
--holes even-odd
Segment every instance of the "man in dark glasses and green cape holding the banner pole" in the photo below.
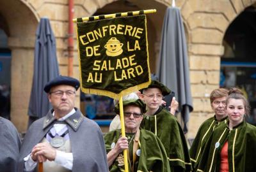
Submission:
<svg viewBox="0 0 256 172">
<path fill-rule="evenodd" d="M 130 99 L 124 101 L 123 106 L 126 137 L 122 137 L 120 129 L 104 136 L 109 171 L 124 171 L 123 151 L 128 149 L 129 171 L 169 172 L 167 155 L 159 138 L 150 131 L 140 129 L 146 110 L 143 101 Z M 119 104 L 115 112 L 120 113 Z"/>
</svg>

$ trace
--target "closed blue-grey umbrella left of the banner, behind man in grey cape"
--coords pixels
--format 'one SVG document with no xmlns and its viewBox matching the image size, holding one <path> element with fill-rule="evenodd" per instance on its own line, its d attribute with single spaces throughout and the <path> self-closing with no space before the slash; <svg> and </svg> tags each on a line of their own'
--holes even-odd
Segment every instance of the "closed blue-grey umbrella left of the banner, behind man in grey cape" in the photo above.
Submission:
<svg viewBox="0 0 256 172">
<path fill-rule="evenodd" d="M 56 41 L 48 18 L 41 18 L 36 30 L 34 75 L 29 101 L 29 125 L 51 109 L 44 85 L 59 75 Z"/>
</svg>

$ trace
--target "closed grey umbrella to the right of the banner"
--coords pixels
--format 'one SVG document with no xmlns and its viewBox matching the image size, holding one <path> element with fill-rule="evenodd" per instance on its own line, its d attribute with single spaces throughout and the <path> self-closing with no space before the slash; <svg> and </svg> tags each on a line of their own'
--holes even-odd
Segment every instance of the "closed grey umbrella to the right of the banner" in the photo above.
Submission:
<svg viewBox="0 0 256 172">
<path fill-rule="evenodd" d="M 175 92 L 184 121 L 184 132 L 187 132 L 186 123 L 193 106 L 186 36 L 179 8 L 168 7 L 166 10 L 159 55 L 156 75 L 160 82 Z"/>
</svg>

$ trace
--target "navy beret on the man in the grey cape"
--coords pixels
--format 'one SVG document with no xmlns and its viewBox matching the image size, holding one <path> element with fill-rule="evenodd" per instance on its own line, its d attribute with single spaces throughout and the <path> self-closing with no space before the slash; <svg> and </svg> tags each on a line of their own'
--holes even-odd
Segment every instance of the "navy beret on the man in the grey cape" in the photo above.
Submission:
<svg viewBox="0 0 256 172">
<path fill-rule="evenodd" d="M 76 90 L 79 89 L 80 83 L 79 80 L 75 78 L 71 78 L 69 76 L 58 76 L 51 80 L 50 82 L 46 83 L 44 86 L 44 91 L 45 92 L 50 92 L 51 87 L 57 86 L 57 85 L 70 85 L 74 87 Z"/>
</svg>

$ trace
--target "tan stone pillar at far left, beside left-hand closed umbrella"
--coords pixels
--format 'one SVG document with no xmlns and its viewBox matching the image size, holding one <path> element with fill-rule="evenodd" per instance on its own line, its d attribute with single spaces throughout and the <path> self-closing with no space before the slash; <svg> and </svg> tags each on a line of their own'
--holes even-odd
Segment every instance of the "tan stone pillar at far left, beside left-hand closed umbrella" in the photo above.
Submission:
<svg viewBox="0 0 256 172">
<path fill-rule="evenodd" d="M 17 129 L 26 131 L 28 101 L 33 77 L 33 54 L 38 16 L 26 1 L 1 1 L 0 13 L 6 23 L 8 47 L 12 50 L 11 120 Z"/>
</svg>

